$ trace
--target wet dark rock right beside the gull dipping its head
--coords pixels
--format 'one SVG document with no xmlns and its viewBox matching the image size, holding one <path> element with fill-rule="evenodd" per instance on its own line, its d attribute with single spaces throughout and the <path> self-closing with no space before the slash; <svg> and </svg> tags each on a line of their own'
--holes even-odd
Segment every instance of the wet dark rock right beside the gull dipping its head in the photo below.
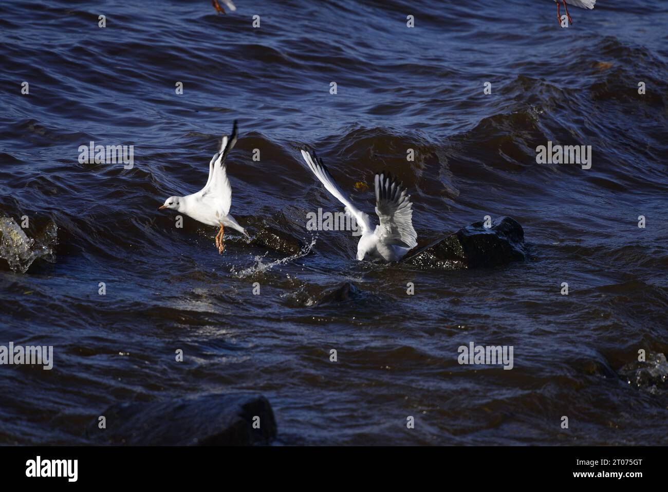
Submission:
<svg viewBox="0 0 668 492">
<path fill-rule="evenodd" d="M 413 248 L 401 260 L 418 267 L 442 270 L 494 267 L 522 260 L 524 231 L 518 221 L 502 217 L 486 229 L 484 222 L 474 222 L 454 234 L 422 248 Z"/>
</svg>

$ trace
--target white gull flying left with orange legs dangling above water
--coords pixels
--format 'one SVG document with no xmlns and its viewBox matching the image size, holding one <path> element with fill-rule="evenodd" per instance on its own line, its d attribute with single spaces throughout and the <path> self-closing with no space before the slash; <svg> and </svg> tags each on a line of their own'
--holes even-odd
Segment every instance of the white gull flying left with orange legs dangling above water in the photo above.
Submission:
<svg viewBox="0 0 668 492">
<path fill-rule="evenodd" d="M 238 225 L 229 213 L 230 205 L 232 205 L 232 187 L 227 178 L 225 158 L 234 144 L 236 144 L 236 120 L 234 120 L 232 135 L 230 138 L 227 138 L 227 135 L 222 137 L 220 152 L 216 152 L 209 162 L 209 177 L 204 188 L 185 197 L 169 197 L 158 209 L 174 209 L 203 224 L 220 226 L 220 231 L 216 235 L 216 247 L 219 254 L 222 254 L 224 249 L 222 236 L 225 226 L 232 227 L 249 237 L 246 229 Z"/>
</svg>

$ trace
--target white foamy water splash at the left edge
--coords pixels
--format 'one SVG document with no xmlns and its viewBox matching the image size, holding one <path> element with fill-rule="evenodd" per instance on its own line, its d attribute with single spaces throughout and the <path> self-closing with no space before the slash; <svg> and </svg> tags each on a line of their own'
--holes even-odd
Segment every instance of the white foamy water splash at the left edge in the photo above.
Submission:
<svg viewBox="0 0 668 492">
<path fill-rule="evenodd" d="M 7 261 L 11 270 L 21 273 L 38 258 L 55 263 L 53 247 L 58 243 L 57 232 L 57 226 L 51 221 L 33 239 L 25 235 L 14 219 L 0 217 L 0 259 Z"/>
</svg>

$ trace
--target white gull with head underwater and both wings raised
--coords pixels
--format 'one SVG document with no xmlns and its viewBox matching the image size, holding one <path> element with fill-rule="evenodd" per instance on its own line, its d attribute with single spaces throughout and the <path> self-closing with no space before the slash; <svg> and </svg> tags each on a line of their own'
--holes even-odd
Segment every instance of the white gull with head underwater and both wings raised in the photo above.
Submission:
<svg viewBox="0 0 668 492">
<path fill-rule="evenodd" d="M 384 172 L 375 175 L 376 207 L 380 225 L 373 228 L 369 216 L 357 209 L 345 198 L 323 160 L 313 150 L 301 150 L 313 174 L 325 185 L 325 189 L 345 206 L 361 229 L 357 243 L 357 259 L 381 259 L 397 261 L 418 244 L 418 235 L 413 229 L 413 209 L 410 195 L 396 178 Z"/>
</svg>

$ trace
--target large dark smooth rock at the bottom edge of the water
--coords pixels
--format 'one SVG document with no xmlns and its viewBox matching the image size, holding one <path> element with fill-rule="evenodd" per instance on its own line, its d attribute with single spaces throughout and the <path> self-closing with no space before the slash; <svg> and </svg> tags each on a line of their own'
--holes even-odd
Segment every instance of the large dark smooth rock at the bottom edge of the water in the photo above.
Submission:
<svg viewBox="0 0 668 492">
<path fill-rule="evenodd" d="M 94 443 L 134 446 L 266 445 L 276 437 L 267 398 L 258 394 L 209 394 L 165 402 L 115 404 L 103 412 L 106 428 L 91 422 Z M 259 416 L 260 428 L 253 428 Z M 257 420 L 257 419 L 256 419 Z"/>
</svg>

